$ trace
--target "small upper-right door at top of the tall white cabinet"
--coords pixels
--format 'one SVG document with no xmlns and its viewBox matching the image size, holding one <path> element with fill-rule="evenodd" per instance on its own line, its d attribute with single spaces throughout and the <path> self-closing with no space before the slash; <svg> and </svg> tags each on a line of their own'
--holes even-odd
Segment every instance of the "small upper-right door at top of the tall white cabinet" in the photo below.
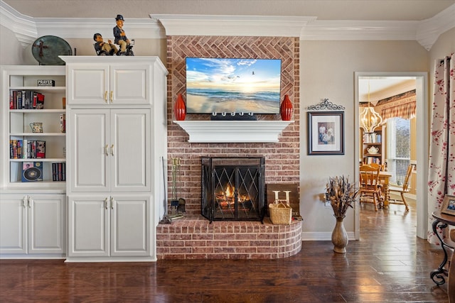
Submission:
<svg viewBox="0 0 455 303">
<path fill-rule="evenodd" d="M 110 67 L 112 105 L 151 104 L 150 65 L 119 64 Z"/>
</svg>

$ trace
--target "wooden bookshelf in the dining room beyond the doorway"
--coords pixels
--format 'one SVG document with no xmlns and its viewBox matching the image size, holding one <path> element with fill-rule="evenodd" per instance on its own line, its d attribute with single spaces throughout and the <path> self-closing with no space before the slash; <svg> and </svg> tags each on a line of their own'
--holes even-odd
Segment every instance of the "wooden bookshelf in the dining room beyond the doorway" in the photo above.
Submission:
<svg viewBox="0 0 455 303">
<path fill-rule="evenodd" d="M 362 131 L 363 163 L 385 164 L 385 126 L 380 126 L 372 133 Z"/>
</svg>

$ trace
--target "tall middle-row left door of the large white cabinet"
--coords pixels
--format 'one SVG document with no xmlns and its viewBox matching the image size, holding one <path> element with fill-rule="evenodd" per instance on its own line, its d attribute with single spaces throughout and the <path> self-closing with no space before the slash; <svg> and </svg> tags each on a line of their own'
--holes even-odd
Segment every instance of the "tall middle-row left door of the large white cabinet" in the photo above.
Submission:
<svg viewBox="0 0 455 303">
<path fill-rule="evenodd" d="M 109 191 L 109 110 L 70 111 L 70 171 L 72 192 Z"/>
</svg>

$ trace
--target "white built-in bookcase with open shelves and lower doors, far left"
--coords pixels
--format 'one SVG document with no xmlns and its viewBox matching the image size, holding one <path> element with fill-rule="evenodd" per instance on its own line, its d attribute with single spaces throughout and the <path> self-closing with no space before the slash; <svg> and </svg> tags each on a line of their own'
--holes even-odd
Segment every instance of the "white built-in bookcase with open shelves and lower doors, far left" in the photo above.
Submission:
<svg viewBox="0 0 455 303">
<path fill-rule="evenodd" d="M 66 161 L 66 133 L 60 127 L 66 113 L 65 67 L 3 65 L 0 73 L 0 258 L 65 258 L 65 181 L 53 179 L 53 165 L 63 167 Z M 43 79 L 53 85 L 39 86 Z M 43 109 L 33 108 L 30 99 L 19 104 L 18 92 L 42 94 Z M 32 122 L 43 123 L 43 132 L 33 133 Z M 18 141 L 21 154 L 12 144 Z M 33 141 L 45 141 L 45 158 L 24 153 L 24 145 Z M 24 168 L 31 162 L 33 178 Z"/>
</svg>

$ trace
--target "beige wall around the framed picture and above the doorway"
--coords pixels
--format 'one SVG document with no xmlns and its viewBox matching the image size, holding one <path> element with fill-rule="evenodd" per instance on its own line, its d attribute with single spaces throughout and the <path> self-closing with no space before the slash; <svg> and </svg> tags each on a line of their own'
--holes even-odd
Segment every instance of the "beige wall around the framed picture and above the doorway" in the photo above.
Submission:
<svg viewBox="0 0 455 303">
<path fill-rule="evenodd" d="M 348 175 L 354 180 L 354 72 L 427 72 L 429 53 L 415 41 L 303 40 L 301 65 L 301 206 L 304 240 L 329 240 L 335 226 L 331 206 L 321 200 L 328 177 Z M 306 107 L 322 99 L 345 106 L 345 155 L 307 155 Z M 354 211 L 345 219 L 353 238 Z"/>
</svg>

